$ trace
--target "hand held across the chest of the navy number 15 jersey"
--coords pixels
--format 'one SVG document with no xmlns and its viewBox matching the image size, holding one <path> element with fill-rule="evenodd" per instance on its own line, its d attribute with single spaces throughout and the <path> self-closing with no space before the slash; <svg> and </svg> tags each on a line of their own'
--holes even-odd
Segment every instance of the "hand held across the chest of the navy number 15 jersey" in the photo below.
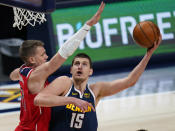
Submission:
<svg viewBox="0 0 175 131">
<path fill-rule="evenodd" d="M 85 113 L 88 110 L 88 107 L 90 107 L 93 111 L 95 111 L 93 105 L 87 101 L 72 97 L 73 104 L 77 107 L 79 107 L 83 113 Z"/>
</svg>

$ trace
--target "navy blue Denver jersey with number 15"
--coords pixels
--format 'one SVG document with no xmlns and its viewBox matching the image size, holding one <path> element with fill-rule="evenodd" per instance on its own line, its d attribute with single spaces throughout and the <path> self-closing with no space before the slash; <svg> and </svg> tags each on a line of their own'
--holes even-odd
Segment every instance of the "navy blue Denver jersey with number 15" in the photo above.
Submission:
<svg viewBox="0 0 175 131">
<path fill-rule="evenodd" d="M 95 108 L 95 95 L 88 85 L 84 94 L 72 86 L 65 96 L 88 101 Z M 85 113 L 73 104 L 52 107 L 49 131 L 97 131 L 97 127 L 96 112 L 90 107 Z"/>
</svg>

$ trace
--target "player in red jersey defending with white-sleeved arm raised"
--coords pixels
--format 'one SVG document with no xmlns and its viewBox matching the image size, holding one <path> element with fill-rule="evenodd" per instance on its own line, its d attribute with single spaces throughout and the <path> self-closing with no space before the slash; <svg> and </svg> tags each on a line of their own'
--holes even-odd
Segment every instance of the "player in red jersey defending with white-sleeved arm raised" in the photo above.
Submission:
<svg viewBox="0 0 175 131">
<path fill-rule="evenodd" d="M 73 54 L 91 26 L 98 22 L 104 6 L 102 2 L 97 13 L 68 39 L 49 61 L 47 61 L 44 43 L 38 40 L 26 40 L 22 43 L 20 57 L 24 65 L 10 74 L 11 80 L 19 80 L 21 89 L 20 122 L 15 131 L 48 131 L 50 108 L 34 105 L 34 98 L 38 92 L 48 86 L 47 78 Z M 69 101 L 69 104 L 72 103 L 81 110 L 87 107 L 94 108 L 91 103 L 79 99 Z"/>
</svg>

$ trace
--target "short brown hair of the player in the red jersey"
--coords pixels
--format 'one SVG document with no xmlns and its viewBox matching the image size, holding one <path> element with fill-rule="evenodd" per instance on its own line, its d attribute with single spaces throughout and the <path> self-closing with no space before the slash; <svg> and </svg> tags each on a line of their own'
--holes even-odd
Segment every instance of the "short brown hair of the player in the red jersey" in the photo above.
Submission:
<svg viewBox="0 0 175 131">
<path fill-rule="evenodd" d="M 36 48 L 39 46 L 44 47 L 44 43 L 39 40 L 26 40 L 22 43 L 19 48 L 19 56 L 24 63 L 28 63 L 28 58 L 35 55 Z"/>
</svg>

